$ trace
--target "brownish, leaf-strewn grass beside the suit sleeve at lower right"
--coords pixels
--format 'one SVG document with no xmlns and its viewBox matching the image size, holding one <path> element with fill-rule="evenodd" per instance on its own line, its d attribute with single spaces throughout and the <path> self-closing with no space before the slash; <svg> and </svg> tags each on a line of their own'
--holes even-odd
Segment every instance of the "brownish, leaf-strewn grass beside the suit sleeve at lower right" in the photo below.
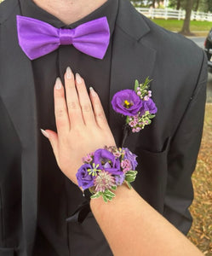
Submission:
<svg viewBox="0 0 212 256">
<path fill-rule="evenodd" d="M 194 201 L 190 207 L 193 217 L 188 238 L 204 255 L 212 256 L 212 103 L 206 104 L 203 139 L 198 163 L 192 175 Z"/>
</svg>

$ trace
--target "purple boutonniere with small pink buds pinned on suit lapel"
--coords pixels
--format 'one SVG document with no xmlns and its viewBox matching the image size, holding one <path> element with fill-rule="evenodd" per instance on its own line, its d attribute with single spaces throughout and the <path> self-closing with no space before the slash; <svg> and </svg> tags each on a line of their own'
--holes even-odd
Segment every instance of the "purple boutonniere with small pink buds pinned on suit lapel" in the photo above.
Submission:
<svg viewBox="0 0 212 256">
<path fill-rule="evenodd" d="M 112 97 L 112 108 L 126 116 L 126 125 L 133 132 L 139 132 L 150 125 L 158 111 L 151 98 L 152 91 L 149 90 L 151 81 L 146 78 L 143 84 L 139 84 L 135 80 L 135 90 L 120 90 Z"/>
</svg>

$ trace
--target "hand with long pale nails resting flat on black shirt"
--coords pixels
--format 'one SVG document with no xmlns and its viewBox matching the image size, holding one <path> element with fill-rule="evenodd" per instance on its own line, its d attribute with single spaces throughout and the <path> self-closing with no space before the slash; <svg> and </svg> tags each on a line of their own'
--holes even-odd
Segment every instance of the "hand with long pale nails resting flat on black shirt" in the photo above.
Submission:
<svg viewBox="0 0 212 256">
<path fill-rule="evenodd" d="M 65 98 L 66 89 L 66 98 Z M 70 67 L 65 73 L 65 89 L 60 79 L 54 85 L 54 114 L 57 133 L 43 131 L 49 138 L 61 171 L 77 184 L 82 158 L 105 146 L 115 146 L 100 98 L 94 89 L 88 94 L 83 78 Z M 92 108 L 93 107 L 93 108 Z"/>
</svg>

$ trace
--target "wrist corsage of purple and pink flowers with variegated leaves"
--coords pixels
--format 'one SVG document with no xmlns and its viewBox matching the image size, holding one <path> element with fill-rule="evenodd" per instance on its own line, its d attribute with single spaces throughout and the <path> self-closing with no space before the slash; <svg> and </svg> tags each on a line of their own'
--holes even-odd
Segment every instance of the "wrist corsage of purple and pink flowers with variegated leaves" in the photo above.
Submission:
<svg viewBox="0 0 212 256">
<path fill-rule="evenodd" d="M 77 171 L 77 183 L 89 189 L 91 198 L 102 196 L 105 202 L 112 201 L 118 186 L 127 183 L 131 189 L 138 165 L 136 155 L 128 148 L 105 147 L 83 157 L 83 166 Z"/>
</svg>

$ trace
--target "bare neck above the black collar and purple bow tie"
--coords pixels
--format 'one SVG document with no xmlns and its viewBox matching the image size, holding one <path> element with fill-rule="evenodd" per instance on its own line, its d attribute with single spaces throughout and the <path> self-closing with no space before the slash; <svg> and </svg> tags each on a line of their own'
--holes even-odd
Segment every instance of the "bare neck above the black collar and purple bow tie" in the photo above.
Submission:
<svg viewBox="0 0 212 256">
<path fill-rule="evenodd" d="M 82 19 L 107 0 L 32 0 L 40 8 L 54 15 L 66 25 Z"/>
</svg>

